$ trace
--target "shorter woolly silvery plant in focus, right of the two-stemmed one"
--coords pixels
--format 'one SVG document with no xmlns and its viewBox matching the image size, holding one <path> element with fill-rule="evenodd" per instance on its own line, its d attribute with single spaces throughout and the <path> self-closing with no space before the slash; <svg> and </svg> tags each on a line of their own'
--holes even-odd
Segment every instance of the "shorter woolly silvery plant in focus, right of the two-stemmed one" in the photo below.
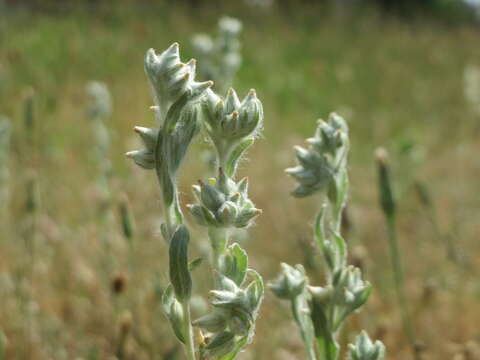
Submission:
<svg viewBox="0 0 480 360">
<path fill-rule="evenodd" d="M 315 136 L 307 143 L 307 148 L 295 147 L 298 164 L 286 172 L 298 183 L 294 196 L 318 193 L 323 198 L 314 238 L 324 258 L 326 283 L 313 286 L 302 265 L 282 264 L 280 275 L 269 286 L 277 297 L 290 302 L 308 358 L 336 360 L 342 326 L 367 301 L 371 286 L 362 279 L 360 269 L 347 264 L 348 249 L 340 234 L 348 194 L 346 122 L 337 114 L 328 121 L 319 120 Z"/>
</svg>

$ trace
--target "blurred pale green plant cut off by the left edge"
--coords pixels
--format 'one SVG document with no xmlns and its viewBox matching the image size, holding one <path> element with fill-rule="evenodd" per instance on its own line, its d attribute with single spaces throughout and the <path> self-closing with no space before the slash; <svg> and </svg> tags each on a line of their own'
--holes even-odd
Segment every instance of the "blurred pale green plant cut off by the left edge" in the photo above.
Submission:
<svg viewBox="0 0 480 360">
<path fill-rule="evenodd" d="M 10 194 L 9 157 L 10 157 L 11 124 L 6 117 L 0 116 L 0 206 L 2 219 L 7 214 L 8 199 Z"/>
</svg>

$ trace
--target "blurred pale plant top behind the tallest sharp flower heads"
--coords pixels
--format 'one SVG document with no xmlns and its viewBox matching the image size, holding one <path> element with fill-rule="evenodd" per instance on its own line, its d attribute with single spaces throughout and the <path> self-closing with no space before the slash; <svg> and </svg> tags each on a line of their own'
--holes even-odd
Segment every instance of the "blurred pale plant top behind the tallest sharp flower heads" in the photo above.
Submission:
<svg viewBox="0 0 480 360">
<path fill-rule="evenodd" d="M 218 35 L 215 40 L 206 34 L 197 34 L 192 38 L 193 48 L 201 61 L 201 77 L 212 79 L 220 93 L 224 93 L 232 85 L 241 65 L 238 39 L 241 31 L 240 20 L 224 16 L 218 22 Z"/>
</svg>

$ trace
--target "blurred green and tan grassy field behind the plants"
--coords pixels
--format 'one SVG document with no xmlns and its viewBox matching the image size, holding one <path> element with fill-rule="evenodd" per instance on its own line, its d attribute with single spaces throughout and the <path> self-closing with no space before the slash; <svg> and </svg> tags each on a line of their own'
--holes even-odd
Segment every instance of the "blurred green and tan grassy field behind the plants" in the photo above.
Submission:
<svg viewBox="0 0 480 360">
<path fill-rule="evenodd" d="M 348 120 L 352 138 L 347 239 L 352 261 L 365 267 L 374 284 L 372 300 L 344 340 L 367 328 L 386 343 L 388 359 L 410 356 L 377 206 L 373 152 L 385 146 L 392 158 L 401 251 L 422 356 L 451 359 L 467 353 L 463 349 L 475 351 L 480 341 L 480 115 L 465 99 L 463 73 L 468 65 L 480 65 L 478 26 L 448 16 L 405 18 L 373 7 L 349 10 L 293 1 L 266 8 L 243 2 L 7 5 L 0 13 L 0 113 L 12 119 L 14 133 L 12 203 L 0 231 L 0 337 L 6 359 L 110 359 L 125 310 L 133 315 L 127 358 L 163 359 L 174 353 L 159 307 L 167 249 L 158 231 L 158 189 L 154 176 L 131 165 L 123 153 L 136 143 L 131 128 L 153 123 L 145 51 L 178 41 L 187 60 L 193 55 L 192 35 L 215 32 L 222 15 L 244 24 L 243 63 L 234 87 L 242 96 L 255 88 L 265 110 L 264 138 L 241 169 L 250 178 L 251 198 L 263 209 L 245 243 L 253 267 L 269 280 L 279 262 L 303 262 L 312 253 L 310 225 L 319 199 L 291 198 L 293 184 L 283 169 L 293 164 L 292 145 L 313 133 L 316 119 L 337 111 Z M 85 84 L 92 79 L 112 92 L 111 187 L 116 200 L 127 194 L 138 229 L 129 250 L 114 213 L 108 231 L 114 270 L 107 274 L 99 265 L 105 254 L 103 230 L 95 220 L 98 170 L 85 110 Z M 33 147 L 26 144 L 22 121 L 30 88 L 35 91 Z M 185 202 L 190 185 L 205 173 L 195 154 L 181 177 Z M 22 305 L 19 298 L 29 291 L 22 274 L 30 259 L 23 242 L 31 169 L 38 178 L 40 208 L 33 300 Z M 444 239 L 429 222 L 415 181 L 432 193 L 440 237 L 453 241 L 463 256 L 460 264 L 447 260 Z M 194 228 L 192 251 L 201 253 L 205 234 Z M 321 267 L 309 271 L 322 280 Z M 115 295 L 110 281 L 118 276 L 126 276 L 127 284 L 125 293 Z M 210 281 L 202 270 L 196 276 Z M 30 321 L 26 313 L 33 314 Z M 296 336 L 289 310 L 267 294 L 257 336 L 242 358 L 304 358 Z"/>
</svg>

